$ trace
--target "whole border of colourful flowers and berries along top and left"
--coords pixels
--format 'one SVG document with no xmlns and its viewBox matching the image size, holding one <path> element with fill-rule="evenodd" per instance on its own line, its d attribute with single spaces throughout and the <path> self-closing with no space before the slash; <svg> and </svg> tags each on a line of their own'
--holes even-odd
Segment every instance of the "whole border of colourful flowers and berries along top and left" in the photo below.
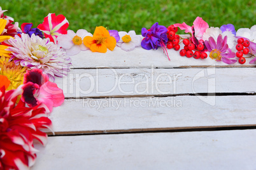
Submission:
<svg viewBox="0 0 256 170">
<path fill-rule="evenodd" d="M 138 46 L 161 48 L 171 60 L 168 49 L 174 48 L 188 58 L 205 59 L 209 54 L 227 64 L 243 64 L 250 57 L 250 63 L 256 61 L 256 25 L 236 31 L 230 23 L 209 27 L 197 17 L 192 26 L 183 22 L 165 27 L 156 22 L 150 29 L 142 28 L 141 35 L 103 26 L 91 34 L 84 29 L 67 30 L 66 17 L 55 13 L 49 13 L 38 27 L 22 23 L 19 28 L 5 11 L 0 7 L 0 169 L 29 169 L 34 164 L 34 140 L 46 145 L 47 134 L 41 130 L 52 131 L 48 115 L 64 102 L 62 89 L 53 81 L 68 74 L 70 56 L 81 50 L 106 53 L 116 46 L 124 51 Z M 189 37 L 176 34 L 178 29 Z"/>
</svg>

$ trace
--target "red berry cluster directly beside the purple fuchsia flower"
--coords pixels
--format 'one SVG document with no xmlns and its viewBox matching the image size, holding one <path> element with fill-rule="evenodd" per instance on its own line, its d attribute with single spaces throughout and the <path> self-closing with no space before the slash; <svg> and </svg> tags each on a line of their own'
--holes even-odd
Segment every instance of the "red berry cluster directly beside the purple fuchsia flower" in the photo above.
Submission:
<svg viewBox="0 0 256 170">
<path fill-rule="evenodd" d="M 180 36 L 176 34 L 178 31 L 178 27 L 174 27 L 174 25 L 170 25 L 167 28 L 167 37 L 168 37 L 168 42 L 167 42 L 167 48 L 171 49 L 174 48 L 176 51 L 180 49 Z"/>
</svg>

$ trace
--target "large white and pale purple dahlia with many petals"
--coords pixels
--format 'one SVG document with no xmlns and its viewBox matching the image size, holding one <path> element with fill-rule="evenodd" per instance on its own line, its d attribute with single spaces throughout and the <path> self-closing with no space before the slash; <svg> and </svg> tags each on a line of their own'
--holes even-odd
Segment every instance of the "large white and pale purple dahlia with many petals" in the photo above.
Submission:
<svg viewBox="0 0 256 170">
<path fill-rule="evenodd" d="M 63 77 L 70 70 L 71 58 L 48 38 L 41 39 L 34 34 L 31 37 L 28 34 L 21 34 L 21 37 L 15 36 L 15 39 L 8 41 L 13 46 L 8 50 L 16 57 L 16 65 L 20 63 L 22 67 L 28 67 L 30 70 L 41 69 L 52 80 L 54 75 Z"/>
</svg>

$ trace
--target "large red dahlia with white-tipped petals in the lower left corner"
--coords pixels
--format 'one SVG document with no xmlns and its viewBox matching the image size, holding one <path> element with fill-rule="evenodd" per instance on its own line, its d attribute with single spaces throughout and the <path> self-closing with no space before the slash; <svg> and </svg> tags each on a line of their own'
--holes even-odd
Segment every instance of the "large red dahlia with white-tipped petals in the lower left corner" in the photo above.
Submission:
<svg viewBox="0 0 256 170">
<path fill-rule="evenodd" d="M 5 91 L 0 88 L 0 169 L 29 169 L 36 160 L 33 140 L 46 144 L 47 135 L 40 129 L 52 129 L 45 108 L 38 105 L 15 105 L 21 89 Z"/>
</svg>

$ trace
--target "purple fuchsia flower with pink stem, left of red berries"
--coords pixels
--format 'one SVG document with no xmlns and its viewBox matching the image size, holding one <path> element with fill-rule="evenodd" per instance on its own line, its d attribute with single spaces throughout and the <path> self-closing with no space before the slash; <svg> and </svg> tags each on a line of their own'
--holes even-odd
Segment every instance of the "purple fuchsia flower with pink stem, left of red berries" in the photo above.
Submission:
<svg viewBox="0 0 256 170">
<path fill-rule="evenodd" d="M 166 32 L 166 27 L 159 25 L 158 22 L 154 23 L 149 30 L 142 28 L 141 35 L 145 38 L 141 41 L 141 46 L 147 50 L 161 47 L 170 60 L 166 49 L 166 43 L 168 41 Z"/>
</svg>

